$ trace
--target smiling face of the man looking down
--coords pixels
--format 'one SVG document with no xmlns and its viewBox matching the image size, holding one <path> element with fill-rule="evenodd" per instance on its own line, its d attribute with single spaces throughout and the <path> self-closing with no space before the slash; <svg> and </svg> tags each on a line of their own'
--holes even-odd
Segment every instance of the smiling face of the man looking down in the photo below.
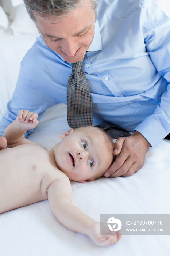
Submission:
<svg viewBox="0 0 170 256">
<path fill-rule="evenodd" d="M 80 61 L 93 41 L 95 14 L 89 0 L 67 18 L 47 20 L 35 14 L 35 19 L 45 44 L 69 63 Z"/>
</svg>

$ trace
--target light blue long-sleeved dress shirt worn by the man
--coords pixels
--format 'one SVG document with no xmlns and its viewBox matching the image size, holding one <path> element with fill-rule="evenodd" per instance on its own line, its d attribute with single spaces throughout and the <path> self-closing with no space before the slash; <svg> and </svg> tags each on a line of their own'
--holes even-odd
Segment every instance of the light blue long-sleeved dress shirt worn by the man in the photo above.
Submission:
<svg viewBox="0 0 170 256">
<path fill-rule="evenodd" d="M 170 19 L 154 0 L 100 0 L 82 70 L 94 125 L 108 120 L 139 131 L 151 146 L 170 132 Z M 66 104 L 71 73 L 71 64 L 38 37 L 22 60 L 1 133 L 19 109 L 40 118 L 47 108 Z"/>
</svg>

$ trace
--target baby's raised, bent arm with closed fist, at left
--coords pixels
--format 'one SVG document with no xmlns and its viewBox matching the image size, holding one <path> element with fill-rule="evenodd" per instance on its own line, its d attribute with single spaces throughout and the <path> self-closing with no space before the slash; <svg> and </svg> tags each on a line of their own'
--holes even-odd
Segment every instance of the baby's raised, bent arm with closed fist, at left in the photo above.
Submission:
<svg viewBox="0 0 170 256">
<path fill-rule="evenodd" d="M 37 144 L 24 139 L 24 133 L 38 125 L 38 114 L 28 110 L 20 110 L 15 121 L 4 131 L 3 137 L 7 139 L 8 147 L 15 147 L 19 144 Z"/>
</svg>

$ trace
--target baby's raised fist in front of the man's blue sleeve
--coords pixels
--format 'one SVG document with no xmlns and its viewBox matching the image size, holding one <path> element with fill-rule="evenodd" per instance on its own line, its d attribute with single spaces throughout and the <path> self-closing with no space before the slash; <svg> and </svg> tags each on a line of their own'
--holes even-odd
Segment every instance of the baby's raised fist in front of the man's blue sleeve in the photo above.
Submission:
<svg viewBox="0 0 170 256">
<path fill-rule="evenodd" d="M 34 129 L 38 125 L 38 114 L 28 110 L 19 110 L 16 118 L 16 124 L 25 130 Z"/>
</svg>

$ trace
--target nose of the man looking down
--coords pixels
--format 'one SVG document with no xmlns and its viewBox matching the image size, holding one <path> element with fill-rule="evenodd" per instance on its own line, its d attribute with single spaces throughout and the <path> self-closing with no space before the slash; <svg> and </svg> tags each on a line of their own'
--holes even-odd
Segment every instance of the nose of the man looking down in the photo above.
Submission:
<svg viewBox="0 0 170 256">
<path fill-rule="evenodd" d="M 75 38 L 68 38 L 62 40 L 62 51 L 69 57 L 73 57 L 78 50 L 78 43 Z"/>
</svg>

